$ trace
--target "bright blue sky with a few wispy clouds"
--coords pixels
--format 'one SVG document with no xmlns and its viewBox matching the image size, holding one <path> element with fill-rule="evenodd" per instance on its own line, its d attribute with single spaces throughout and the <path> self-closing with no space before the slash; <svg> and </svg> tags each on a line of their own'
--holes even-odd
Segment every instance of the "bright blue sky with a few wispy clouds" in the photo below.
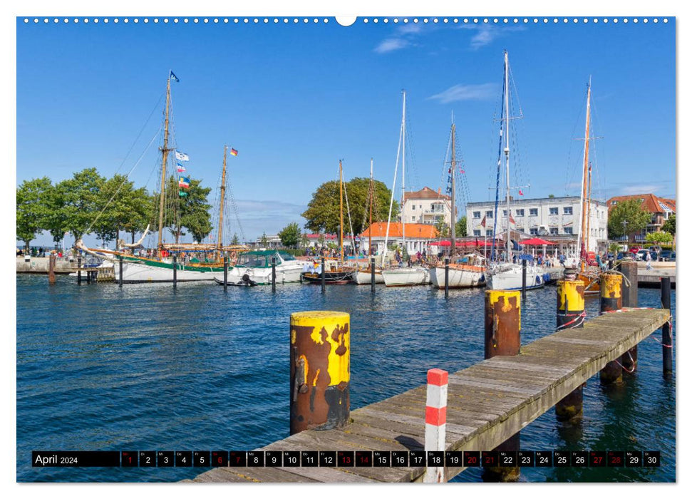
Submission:
<svg viewBox="0 0 692 499">
<path fill-rule="evenodd" d="M 361 18 L 349 27 L 322 17 L 317 24 L 110 19 L 18 19 L 17 185 L 90 167 L 106 176 L 130 170 L 160 126 L 172 69 L 180 78 L 172 83 L 175 141 L 190 155 L 188 171 L 217 187 L 224 143 L 239 150 L 229 178 L 249 238 L 302 226 L 311 193 L 336 178 L 339 159 L 352 178 L 367 176 L 373 157 L 376 178 L 391 186 L 403 88 L 413 152 L 407 188 L 440 187 L 453 112 L 468 200 L 487 200 L 506 48 L 524 115 L 514 122 L 512 183 L 530 183 L 525 197 L 578 195 L 575 139 L 584 133 L 589 76 L 599 137 L 594 195 L 675 197 L 673 18 L 507 25 Z M 131 175 L 135 184 L 155 188 L 157 161 L 149 148 Z"/>
</svg>

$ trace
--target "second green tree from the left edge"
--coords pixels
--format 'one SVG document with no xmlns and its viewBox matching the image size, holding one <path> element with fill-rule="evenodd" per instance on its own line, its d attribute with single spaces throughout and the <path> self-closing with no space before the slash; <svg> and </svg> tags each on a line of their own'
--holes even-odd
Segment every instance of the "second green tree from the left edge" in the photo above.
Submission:
<svg viewBox="0 0 692 499">
<path fill-rule="evenodd" d="M 105 179 L 98 175 L 95 168 L 86 168 L 77 172 L 72 178 L 63 180 L 56 185 L 51 209 L 59 210 L 59 220 L 54 220 L 53 238 L 57 228 L 60 232 L 71 232 L 75 240 L 80 239 L 96 220 L 96 215 L 103 208 L 100 196 Z M 63 230 L 64 229 L 64 230 Z"/>
</svg>

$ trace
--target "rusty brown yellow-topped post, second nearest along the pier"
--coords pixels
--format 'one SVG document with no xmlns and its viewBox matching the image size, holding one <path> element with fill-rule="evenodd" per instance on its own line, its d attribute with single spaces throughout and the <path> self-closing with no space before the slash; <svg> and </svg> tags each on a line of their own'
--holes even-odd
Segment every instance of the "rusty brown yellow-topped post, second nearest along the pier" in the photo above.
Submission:
<svg viewBox="0 0 692 499">
<path fill-rule="evenodd" d="M 521 348 L 521 297 L 518 291 L 485 292 L 485 359 L 496 355 L 518 355 Z M 507 438 L 495 451 L 519 451 L 520 433 Z M 519 468 L 485 467 L 484 481 L 512 482 Z"/>
</svg>

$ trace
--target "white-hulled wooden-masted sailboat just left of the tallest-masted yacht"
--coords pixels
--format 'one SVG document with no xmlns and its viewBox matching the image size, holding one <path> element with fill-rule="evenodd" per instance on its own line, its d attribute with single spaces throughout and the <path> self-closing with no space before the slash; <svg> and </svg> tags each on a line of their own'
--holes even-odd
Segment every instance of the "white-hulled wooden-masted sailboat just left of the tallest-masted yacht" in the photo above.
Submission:
<svg viewBox="0 0 692 499">
<path fill-rule="evenodd" d="M 475 260 L 477 259 L 474 254 L 465 255 L 463 258 L 456 256 L 456 208 L 455 208 L 455 198 L 456 198 L 456 150 L 455 150 L 455 139 L 456 139 L 456 125 L 454 120 L 452 120 L 452 130 L 450 140 L 452 142 L 452 155 L 450 161 L 450 180 L 452 187 L 452 242 L 450 249 L 450 263 L 448 266 L 444 264 L 437 264 L 435 267 L 430 268 L 430 282 L 434 287 L 443 289 L 445 287 L 445 272 L 447 273 L 447 283 L 450 288 L 459 287 L 475 287 L 482 286 L 485 284 L 485 267 L 480 265 L 475 265 Z"/>
</svg>

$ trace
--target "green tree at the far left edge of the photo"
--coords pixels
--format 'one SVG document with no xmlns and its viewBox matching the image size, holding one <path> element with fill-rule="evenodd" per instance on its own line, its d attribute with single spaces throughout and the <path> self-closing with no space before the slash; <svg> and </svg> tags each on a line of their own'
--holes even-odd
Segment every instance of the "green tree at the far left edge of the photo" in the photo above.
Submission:
<svg viewBox="0 0 692 499">
<path fill-rule="evenodd" d="M 27 250 L 36 234 L 46 228 L 51 190 L 53 185 L 48 177 L 24 180 L 17 187 L 16 237 L 18 241 L 24 241 Z"/>
</svg>

